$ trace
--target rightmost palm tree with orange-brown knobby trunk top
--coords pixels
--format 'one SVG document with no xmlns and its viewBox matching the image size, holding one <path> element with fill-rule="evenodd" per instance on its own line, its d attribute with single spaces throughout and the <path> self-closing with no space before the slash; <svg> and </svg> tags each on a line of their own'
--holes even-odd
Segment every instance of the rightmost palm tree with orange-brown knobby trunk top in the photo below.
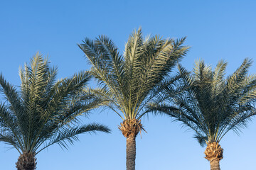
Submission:
<svg viewBox="0 0 256 170">
<path fill-rule="evenodd" d="M 229 130 L 240 132 L 255 115 L 256 75 L 247 74 L 251 64 L 251 60 L 245 59 L 226 79 L 224 61 L 218 62 L 214 71 L 198 61 L 193 74 L 180 67 L 184 75 L 181 84 L 187 85 L 186 90 L 169 97 L 169 102 L 151 106 L 152 110 L 165 113 L 196 132 L 198 142 L 207 145 L 205 154 L 211 170 L 220 169 L 223 149 L 219 143 L 223 136 Z"/>
</svg>

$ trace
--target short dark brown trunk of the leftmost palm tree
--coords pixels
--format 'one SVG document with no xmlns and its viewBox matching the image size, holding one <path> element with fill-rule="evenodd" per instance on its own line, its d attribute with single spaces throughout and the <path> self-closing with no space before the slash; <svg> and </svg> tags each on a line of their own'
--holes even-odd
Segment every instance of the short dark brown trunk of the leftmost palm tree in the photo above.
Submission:
<svg viewBox="0 0 256 170">
<path fill-rule="evenodd" d="M 35 170 L 36 169 L 36 157 L 34 153 L 24 152 L 18 157 L 16 162 L 17 170 Z"/>
</svg>

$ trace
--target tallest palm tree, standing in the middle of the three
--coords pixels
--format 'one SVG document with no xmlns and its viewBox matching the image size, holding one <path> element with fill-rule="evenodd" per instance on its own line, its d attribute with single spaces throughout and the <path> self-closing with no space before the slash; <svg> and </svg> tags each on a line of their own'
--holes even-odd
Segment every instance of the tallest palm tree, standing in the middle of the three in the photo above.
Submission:
<svg viewBox="0 0 256 170">
<path fill-rule="evenodd" d="M 141 118 L 147 113 L 145 106 L 159 97 L 164 84 L 178 79 L 165 78 L 186 54 L 184 40 L 161 39 L 157 35 L 143 39 L 139 28 L 129 36 L 124 55 L 104 35 L 96 40 L 85 38 L 78 45 L 92 64 L 92 75 L 102 85 L 102 89 L 91 93 L 109 101 L 107 106 L 123 120 L 119 130 L 127 138 L 127 170 L 135 169 L 135 138 L 144 130 Z"/>
</svg>

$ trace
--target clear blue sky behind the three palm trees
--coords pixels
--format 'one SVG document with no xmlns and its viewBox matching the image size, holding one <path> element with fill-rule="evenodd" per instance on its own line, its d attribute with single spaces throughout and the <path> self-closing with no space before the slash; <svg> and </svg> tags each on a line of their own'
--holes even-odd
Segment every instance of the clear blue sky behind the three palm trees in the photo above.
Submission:
<svg viewBox="0 0 256 170">
<path fill-rule="evenodd" d="M 48 55 L 58 66 L 58 76 L 68 77 L 90 69 L 77 43 L 83 38 L 107 35 L 120 51 L 132 30 L 142 26 L 144 35 L 164 38 L 187 36 L 190 52 L 182 60 L 187 69 L 203 58 L 208 64 L 228 61 L 228 74 L 245 57 L 255 63 L 255 1 L 0 1 L 0 72 L 20 84 L 18 67 L 36 52 Z M 121 119 L 112 111 L 95 111 L 84 123 L 108 125 L 112 134 L 80 135 L 80 142 L 62 150 L 58 145 L 38 154 L 38 170 L 125 169 L 126 140 L 117 129 Z M 205 148 L 193 132 L 181 129 L 166 117 L 142 120 L 148 132 L 137 137 L 137 170 L 205 170 Z M 230 131 L 221 141 L 221 169 L 255 169 L 256 118 L 240 136 Z M 15 169 L 18 152 L 0 143 L 1 170 Z"/>
</svg>

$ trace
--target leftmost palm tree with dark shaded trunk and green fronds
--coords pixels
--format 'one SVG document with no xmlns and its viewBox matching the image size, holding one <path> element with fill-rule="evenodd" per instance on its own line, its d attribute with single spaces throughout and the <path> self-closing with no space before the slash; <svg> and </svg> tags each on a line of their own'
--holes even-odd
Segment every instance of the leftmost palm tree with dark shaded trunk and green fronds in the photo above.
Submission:
<svg viewBox="0 0 256 170">
<path fill-rule="evenodd" d="M 0 74 L 0 141 L 18 150 L 18 170 L 36 169 L 36 154 L 50 145 L 67 147 L 84 132 L 110 132 L 97 123 L 78 125 L 78 115 L 102 104 L 81 91 L 90 80 L 88 72 L 56 81 L 57 69 L 36 54 L 30 66 L 19 70 L 20 91 Z"/>
</svg>

